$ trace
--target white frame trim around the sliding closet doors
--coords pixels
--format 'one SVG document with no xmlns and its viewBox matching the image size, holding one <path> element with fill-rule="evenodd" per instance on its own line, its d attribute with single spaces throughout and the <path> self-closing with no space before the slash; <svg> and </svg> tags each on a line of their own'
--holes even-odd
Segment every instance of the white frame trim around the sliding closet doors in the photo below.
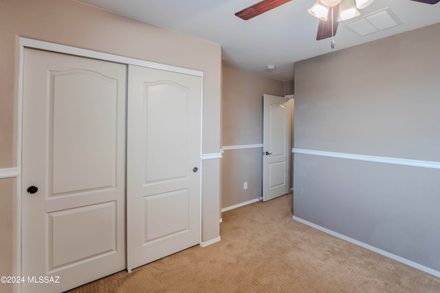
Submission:
<svg viewBox="0 0 440 293">
<path fill-rule="evenodd" d="M 142 67 L 150 67 L 150 68 L 154 68 L 154 69 L 161 69 L 161 70 L 166 70 L 166 71 L 170 71 L 170 72 L 177 72 L 177 73 L 181 73 L 181 74 L 188 74 L 188 75 L 193 75 L 193 76 L 199 76 L 201 78 L 201 95 L 200 95 L 200 100 L 201 100 L 201 107 L 200 107 L 200 119 L 201 119 L 201 123 L 200 123 L 200 145 L 202 146 L 202 142 L 203 142 L 203 72 L 199 71 L 199 70 L 195 70 L 195 69 L 188 69 L 188 68 L 184 68 L 184 67 L 177 67 L 177 66 L 173 66 L 173 65 L 165 65 L 165 64 L 161 64 L 161 63 L 155 63 L 155 62 L 151 62 L 151 61 L 144 61 L 141 59 L 137 59 L 137 58 L 129 58 L 129 57 L 124 57 L 124 56 L 118 56 L 118 55 L 113 55 L 113 54 L 108 54 L 108 53 L 103 53 L 103 52 L 98 52 L 98 51 L 93 51 L 93 50 L 87 50 L 87 49 L 81 49 L 78 47 L 71 47 L 71 46 L 67 46 L 67 45 L 60 45 L 60 44 L 56 44 L 56 43 L 50 43 L 50 42 L 45 42 L 45 41 L 38 41 L 38 40 L 34 40 L 34 39 L 28 39 L 28 38 L 23 38 L 20 37 L 19 38 L 19 82 L 18 82 L 18 90 L 17 90 L 17 94 L 18 94 L 18 101 L 17 101 L 17 169 L 14 169 L 14 175 L 16 175 L 15 177 L 17 178 L 17 182 L 16 182 L 16 194 L 17 194 L 17 201 L 15 202 L 16 205 L 16 209 L 15 209 L 15 228 L 16 228 L 16 235 L 14 237 L 14 244 L 15 244 L 15 251 L 16 251 L 16 274 L 17 276 L 21 276 L 21 272 L 22 272 L 22 268 L 21 268 L 21 226 L 22 226 L 22 213 L 21 213 L 21 200 L 22 200 L 22 194 L 23 191 L 21 189 L 21 170 L 22 170 L 22 162 L 21 162 L 21 147 L 23 145 L 23 141 L 22 141 L 22 135 L 23 135 L 23 75 L 24 75 L 24 51 L 25 51 L 25 47 L 28 48 L 33 48 L 33 49 L 39 49 L 39 50 L 46 50 L 46 51 L 50 51 L 50 52 L 56 52 L 56 53 L 62 53 L 62 54 L 71 54 L 71 55 L 75 55 L 75 56 L 80 56 L 80 57 L 85 57 L 85 58 L 94 58 L 94 59 L 98 59 L 101 61 L 109 61 L 109 62 L 114 62 L 114 63 L 122 63 L 122 64 L 126 64 L 126 65 L 138 65 L 138 66 L 142 66 Z M 202 152 L 202 147 L 200 148 L 200 152 Z M 199 191 L 200 191 L 200 198 L 199 198 L 199 202 L 200 202 L 200 235 L 199 235 L 199 243 L 201 242 L 201 215 L 203 214 L 202 211 L 202 204 L 201 204 L 201 199 L 202 199 L 202 178 L 203 178 L 203 169 L 202 169 L 202 160 L 206 160 L 206 155 L 203 155 L 202 153 L 200 153 L 200 161 L 199 161 L 199 166 L 200 166 L 200 186 L 199 186 Z M 126 196 L 126 195 L 125 195 Z M 16 284 L 16 290 L 17 292 L 21 292 L 21 283 L 17 283 Z"/>
</svg>

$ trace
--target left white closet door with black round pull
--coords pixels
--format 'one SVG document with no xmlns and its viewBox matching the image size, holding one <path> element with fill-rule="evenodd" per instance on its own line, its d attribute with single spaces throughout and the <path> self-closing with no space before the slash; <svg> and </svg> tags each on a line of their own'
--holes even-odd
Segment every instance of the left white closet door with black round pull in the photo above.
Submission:
<svg viewBox="0 0 440 293">
<path fill-rule="evenodd" d="M 125 89 L 125 65 L 25 49 L 21 275 L 53 282 L 23 292 L 126 268 Z"/>
</svg>

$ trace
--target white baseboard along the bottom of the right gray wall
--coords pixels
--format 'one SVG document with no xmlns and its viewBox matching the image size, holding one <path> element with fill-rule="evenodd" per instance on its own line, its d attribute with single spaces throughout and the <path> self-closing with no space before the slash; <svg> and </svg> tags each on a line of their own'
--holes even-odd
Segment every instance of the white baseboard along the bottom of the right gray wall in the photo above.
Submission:
<svg viewBox="0 0 440 293">
<path fill-rule="evenodd" d="M 322 232 L 326 232 L 327 234 L 332 235 L 334 237 L 338 237 L 338 238 L 343 239 L 345 241 L 349 241 L 349 242 L 351 242 L 351 243 L 353 243 L 353 244 L 355 244 L 357 246 L 361 246 L 363 248 L 366 248 L 366 249 L 371 250 L 373 252 L 376 252 L 378 254 L 382 254 L 384 257 L 389 257 L 390 259 L 394 259 L 395 261 L 399 261 L 400 263 L 404 263 L 406 265 L 409 265 L 410 267 L 416 268 L 417 270 L 421 270 L 423 272 L 427 272 L 428 274 L 432 274 L 434 276 L 440 277 L 440 272 L 437 271 L 437 270 L 432 270 L 432 268 L 428 268 L 428 267 L 426 267 L 424 265 L 420 265 L 419 263 L 415 263 L 414 261 L 410 261 L 408 259 L 404 259 L 403 257 L 399 257 L 399 256 L 397 256 L 395 254 L 390 253 L 390 252 L 386 252 L 386 251 L 381 250 L 379 248 L 375 248 L 374 246 L 371 246 L 371 245 L 366 244 L 364 242 L 355 240 L 353 238 L 350 238 L 350 237 L 344 236 L 342 234 L 339 234 L 338 232 L 335 232 L 335 231 L 329 230 L 327 228 L 324 228 L 324 227 L 318 226 L 316 224 L 313 224 L 313 223 L 311 223 L 309 221 L 306 221 L 305 219 L 301 219 L 301 218 L 298 218 L 298 217 L 295 217 L 295 216 L 292 216 L 292 219 L 294 219 L 295 221 L 299 221 L 299 222 L 301 222 L 301 223 L 303 223 L 303 224 L 305 224 L 307 226 L 310 226 L 312 228 L 316 228 L 316 229 L 318 229 L 318 230 L 320 230 Z"/>
</svg>

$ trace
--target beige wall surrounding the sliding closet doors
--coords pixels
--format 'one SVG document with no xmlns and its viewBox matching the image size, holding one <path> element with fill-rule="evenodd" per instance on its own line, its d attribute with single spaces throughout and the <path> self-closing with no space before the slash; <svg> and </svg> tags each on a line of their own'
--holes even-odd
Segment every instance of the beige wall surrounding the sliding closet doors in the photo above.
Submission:
<svg viewBox="0 0 440 293">
<path fill-rule="evenodd" d="M 16 165 L 18 36 L 139 58 L 204 72 L 203 153 L 220 151 L 221 47 L 184 34 L 126 19 L 70 0 L 6 0 L 0 2 L 0 168 Z M 202 241 L 219 235 L 219 166 L 208 163 L 203 182 L 214 184 L 203 194 Z M 218 165 L 218 164 L 217 164 Z M 10 180 L 0 180 L 10 186 Z M 216 189 L 217 188 L 217 189 Z M 206 189 L 206 188 L 205 188 Z M 0 215 L 10 221 L 10 187 L 1 189 Z M 212 218 L 217 219 L 217 224 Z M 206 224 L 208 223 L 208 224 Z M 1 224 L 0 275 L 14 275 L 13 227 Z M 11 259 L 12 255 L 12 259 Z M 12 262 L 12 263 L 11 263 Z"/>
</svg>

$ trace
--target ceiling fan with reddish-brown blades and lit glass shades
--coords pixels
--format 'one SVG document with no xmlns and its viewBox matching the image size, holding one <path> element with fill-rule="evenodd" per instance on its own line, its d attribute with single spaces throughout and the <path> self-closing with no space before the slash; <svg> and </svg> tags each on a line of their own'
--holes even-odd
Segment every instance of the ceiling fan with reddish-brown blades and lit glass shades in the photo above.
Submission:
<svg viewBox="0 0 440 293">
<path fill-rule="evenodd" d="M 252 19 L 259 14 L 272 10 L 292 0 L 263 0 L 248 8 L 236 12 L 236 16 L 244 19 Z M 318 34 L 316 40 L 330 38 L 336 35 L 339 21 L 344 21 L 357 17 L 360 12 L 358 9 L 369 6 L 374 0 L 317 0 L 314 6 L 309 9 L 309 13 L 318 18 Z M 440 0 L 412 0 L 421 3 L 435 4 Z"/>
</svg>

